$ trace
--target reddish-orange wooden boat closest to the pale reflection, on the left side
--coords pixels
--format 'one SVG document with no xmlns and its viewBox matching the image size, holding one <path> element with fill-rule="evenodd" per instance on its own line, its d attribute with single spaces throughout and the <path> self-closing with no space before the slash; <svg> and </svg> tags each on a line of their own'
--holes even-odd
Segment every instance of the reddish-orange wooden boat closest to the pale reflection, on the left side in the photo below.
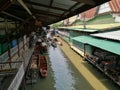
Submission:
<svg viewBox="0 0 120 90">
<path fill-rule="evenodd" d="M 42 77 L 47 76 L 47 60 L 44 55 L 40 56 L 40 74 Z"/>
</svg>

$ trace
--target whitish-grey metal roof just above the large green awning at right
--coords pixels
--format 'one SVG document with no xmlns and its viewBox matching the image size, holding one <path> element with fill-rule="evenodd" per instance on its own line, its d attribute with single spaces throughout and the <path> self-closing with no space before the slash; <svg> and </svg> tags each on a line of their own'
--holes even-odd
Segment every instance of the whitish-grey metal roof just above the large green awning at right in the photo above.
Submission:
<svg viewBox="0 0 120 90">
<path fill-rule="evenodd" d="M 119 40 L 120 41 L 120 30 L 106 32 L 106 33 L 91 34 L 91 35 L 95 36 L 95 37 L 101 37 L 101 38 Z"/>
</svg>

